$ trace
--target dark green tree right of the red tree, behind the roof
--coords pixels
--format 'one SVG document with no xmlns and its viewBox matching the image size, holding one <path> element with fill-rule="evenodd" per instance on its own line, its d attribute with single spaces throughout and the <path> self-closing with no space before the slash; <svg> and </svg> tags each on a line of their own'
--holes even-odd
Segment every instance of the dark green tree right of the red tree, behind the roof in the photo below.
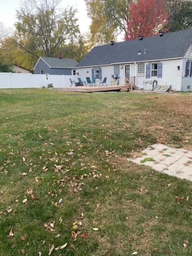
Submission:
<svg viewBox="0 0 192 256">
<path fill-rule="evenodd" d="M 192 28 L 192 1 L 167 0 L 170 13 L 168 28 L 171 32 Z"/>
</svg>

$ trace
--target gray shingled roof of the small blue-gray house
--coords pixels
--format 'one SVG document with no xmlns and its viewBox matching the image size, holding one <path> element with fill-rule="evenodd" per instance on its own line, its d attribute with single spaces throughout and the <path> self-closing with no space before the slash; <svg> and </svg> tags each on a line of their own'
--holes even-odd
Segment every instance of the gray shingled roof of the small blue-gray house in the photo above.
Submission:
<svg viewBox="0 0 192 256">
<path fill-rule="evenodd" d="M 51 68 L 75 68 L 78 62 L 74 59 L 41 57 Z"/>
</svg>

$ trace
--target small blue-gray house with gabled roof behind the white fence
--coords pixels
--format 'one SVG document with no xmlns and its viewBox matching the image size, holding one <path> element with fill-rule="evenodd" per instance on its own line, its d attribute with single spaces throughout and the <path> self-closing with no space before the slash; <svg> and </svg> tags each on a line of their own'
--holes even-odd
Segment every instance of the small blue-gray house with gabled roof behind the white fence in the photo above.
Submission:
<svg viewBox="0 0 192 256">
<path fill-rule="evenodd" d="M 34 74 L 50 75 L 76 75 L 76 65 L 74 59 L 63 59 L 58 54 L 58 58 L 40 57 L 34 66 Z"/>
</svg>

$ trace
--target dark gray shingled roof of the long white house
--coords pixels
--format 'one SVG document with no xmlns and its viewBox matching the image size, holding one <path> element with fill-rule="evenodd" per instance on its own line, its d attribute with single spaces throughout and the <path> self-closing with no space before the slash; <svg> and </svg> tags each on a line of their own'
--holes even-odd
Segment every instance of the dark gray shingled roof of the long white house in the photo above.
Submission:
<svg viewBox="0 0 192 256">
<path fill-rule="evenodd" d="M 192 43 L 192 29 L 94 47 L 76 67 L 183 57 Z M 146 49 L 146 54 L 144 54 Z M 141 52 L 138 55 L 138 52 Z"/>
</svg>

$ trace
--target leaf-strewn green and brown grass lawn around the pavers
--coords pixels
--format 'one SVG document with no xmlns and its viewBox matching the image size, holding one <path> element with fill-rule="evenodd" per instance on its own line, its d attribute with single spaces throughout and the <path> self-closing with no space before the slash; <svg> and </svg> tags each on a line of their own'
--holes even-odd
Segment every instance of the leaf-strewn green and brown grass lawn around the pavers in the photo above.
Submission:
<svg viewBox="0 0 192 256">
<path fill-rule="evenodd" d="M 192 150 L 190 97 L 0 90 L 0 110 L 0 256 L 192 255 L 192 183 L 126 160 Z"/>
</svg>

